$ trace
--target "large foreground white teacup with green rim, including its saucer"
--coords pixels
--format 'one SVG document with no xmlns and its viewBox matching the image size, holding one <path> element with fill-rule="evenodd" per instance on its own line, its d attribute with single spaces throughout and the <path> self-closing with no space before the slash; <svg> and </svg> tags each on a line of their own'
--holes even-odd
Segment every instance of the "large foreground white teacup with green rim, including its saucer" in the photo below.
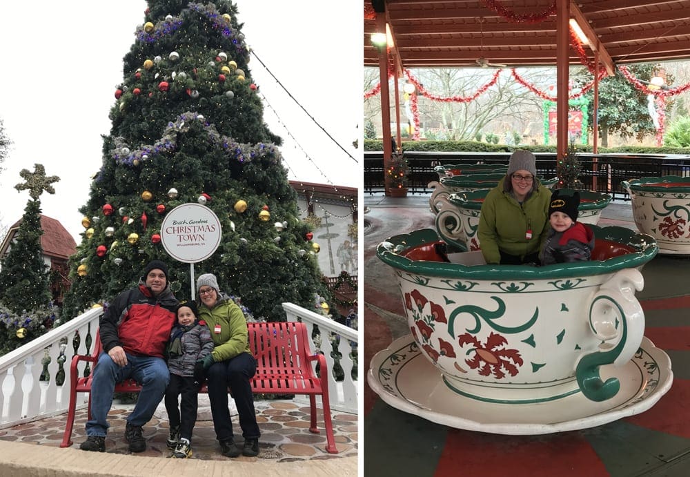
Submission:
<svg viewBox="0 0 690 477">
<path fill-rule="evenodd" d="M 482 264 L 480 251 L 433 229 L 380 243 L 410 334 L 371 360 L 371 389 L 402 411 L 497 434 L 584 429 L 649 409 L 673 381 L 635 298 L 658 246 L 628 228 L 591 228 L 591 261 L 542 267 Z"/>
</svg>

